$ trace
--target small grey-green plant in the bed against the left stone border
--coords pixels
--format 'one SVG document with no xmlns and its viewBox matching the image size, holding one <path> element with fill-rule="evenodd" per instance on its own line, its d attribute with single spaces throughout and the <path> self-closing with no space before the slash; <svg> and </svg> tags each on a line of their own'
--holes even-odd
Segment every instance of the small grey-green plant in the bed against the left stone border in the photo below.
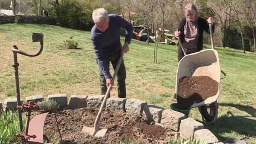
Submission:
<svg viewBox="0 0 256 144">
<path fill-rule="evenodd" d="M 37 105 L 39 105 L 40 110 L 43 110 L 44 112 L 50 112 L 50 113 L 52 113 L 59 107 L 57 102 L 53 100 L 39 101 Z"/>
</svg>

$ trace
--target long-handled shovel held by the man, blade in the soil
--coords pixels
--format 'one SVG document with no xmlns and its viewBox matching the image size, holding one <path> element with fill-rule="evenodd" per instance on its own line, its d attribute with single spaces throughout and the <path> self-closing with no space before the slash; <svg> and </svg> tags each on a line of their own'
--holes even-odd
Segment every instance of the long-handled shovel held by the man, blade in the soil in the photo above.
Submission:
<svg viewBox="0 0 256 144">
<path fill-rule="evenodd" d="M 118 61 L 117 66 L 116 66 L 116 70 L 114 71 L 114 75 L 111 79 L 112 83 L 114 82 L 114 79 L 116 78 L 116 75 L 117 75 L 117 72 L 119 71 L 119 67 L 120 67 L 120 64 L 121 64 L 122 60 L 123 60 L 123 53 L 121 54 L 121 56 L 119 58 L 119 61 Z M 107 98 L 108 98 L 108 94 L 110 94 L 111 87 L 112 87 L 112 85 L 110 84 L 108 86 L 107 92 L 105 93 L 103 102 L 101 103 L 100 110 L 98 111 L 97 117 L 96 117 L 95 122 L 94 122 L 94 127 L 84 126 L 82 128 L 81 133 L 87 133 L 88 135 L 95 136 L 95 137 L 103 137 L 105 135 L 105 133 L 107 132 L 108 129 L 100 129 L 100 123 L 99 122 L 100 122 L 101 113 L 103 111 L 103 108 L 105 107 L 105 103 L 106 103 Z"/>
</svg>

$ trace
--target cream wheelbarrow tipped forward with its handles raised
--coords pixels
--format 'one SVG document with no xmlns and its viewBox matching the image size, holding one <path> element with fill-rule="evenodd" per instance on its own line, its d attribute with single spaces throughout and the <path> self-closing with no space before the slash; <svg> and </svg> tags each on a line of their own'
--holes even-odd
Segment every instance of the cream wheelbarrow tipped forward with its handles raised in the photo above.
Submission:
<svg viewBox="0 0 256 144">
<path fill-rule="evenodd" d="M 194 107 L 198 107 L 203 121 L 207 123 L 213 123 L 217 119 L 217 98 L 219 97 L 220 94 L 219 88 L 221 72 L 219 56 L 213 46 L 212 25 L 209 25 L 209 27 L 212 41 L 212 49 L 201 50 L 200 52 L 185 55 L 180 60 L 177 69 L 175 94 L 177 94 L 178 92 L 178 84 L 180 82 L 180 79 L 183 77 L 209 76 L 210 78 L 218 82 L 219 85 L 217 93 L 215 95 L 213 95 L 212 97 L 208 97 L 206 98 L 206 100 L 202 100 L 200 102 L 193 102 L 193 104 L 189 108 L 191 109 Z M 183 49 L 184 52 L 184 48 L 182 45 L 181 48 Z M 171 108 L 172 107 L 173 105 L 171 105 Z"/>
</svg>

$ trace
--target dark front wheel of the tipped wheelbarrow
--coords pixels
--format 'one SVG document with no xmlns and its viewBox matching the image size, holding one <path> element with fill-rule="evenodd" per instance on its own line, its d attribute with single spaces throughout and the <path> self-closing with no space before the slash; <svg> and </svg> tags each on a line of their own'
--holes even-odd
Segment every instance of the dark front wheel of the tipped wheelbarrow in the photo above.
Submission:
<svg viewBox="0 0 256 144">
<path fill-rule="evenodd" d="M 217 101 L 212 104 L 203 105 L 199 107 L 202 119 L 206 123 L 214 123 L 217 120 Z"/>
</svg>

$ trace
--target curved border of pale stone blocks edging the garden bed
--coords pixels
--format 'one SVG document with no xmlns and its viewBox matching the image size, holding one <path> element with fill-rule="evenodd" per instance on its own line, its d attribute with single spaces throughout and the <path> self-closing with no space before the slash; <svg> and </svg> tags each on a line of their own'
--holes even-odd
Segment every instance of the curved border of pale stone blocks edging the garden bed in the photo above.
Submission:
<svg viewBox="0 0 256 144">
<path fill-rule="evenodd" d="M 94 95 L 88 97 L 86 95 L 71 95 L 68 101 L 66 94 L 48 95 L 47 100 L 54 100 L 60 107 L 100 107 L 104 95 Z M 26 97 L 26 101 L 33 101 L 35 103 L 43 101 L 43 95 L 33 95 Z M 17 99 L 7 98 L 2 104 L 0 101 L 0 112 L 3 110 L 17 110 Z M 123 110 L 127 113 L 133 113 L 140 116 L 147 117 L 148 120 L 158 123 L 162 127 L 167 127 L 180 133 L 180 136 L 185 139 L 200 139 L 204 143 L 217 143 L 219 140 L 208 129 L 204 129 L 203 123 L 194 120 L 191 117 L 185 117 L 185 114 L 171 109 L 164 110 L 164 108 L 156 105 L 148 105 L 145 101 L 137 100 L 136 98 L 113 98 L 107 99 L 106 107 L 110 110 Z M 222 142 L 219 142 L 219 144 Z"/>
</svg>

